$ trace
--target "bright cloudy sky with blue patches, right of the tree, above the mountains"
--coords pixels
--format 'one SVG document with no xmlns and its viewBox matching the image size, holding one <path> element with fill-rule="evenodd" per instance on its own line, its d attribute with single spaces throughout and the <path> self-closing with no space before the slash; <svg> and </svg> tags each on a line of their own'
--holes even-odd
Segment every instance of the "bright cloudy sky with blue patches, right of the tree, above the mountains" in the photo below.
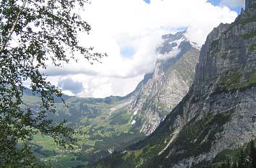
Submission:
<svg viewBox="0 0 256 168">
<path fill-rule="evenodd" d="M 161 35 L 187 28 L 187 38 L 202 45 L 213 27 L 234 21 L 243 4 L 239 0 L 93 0 L 80 11 L 92 27 L 90 35 L 80 33 L 80 44 L 94 46 L 108 57 L 90 65 L 77 56 L 77 63 L 49 66 L 43 73 L 65 94 L 124 96 L 153 71 Z"/>
</svg>

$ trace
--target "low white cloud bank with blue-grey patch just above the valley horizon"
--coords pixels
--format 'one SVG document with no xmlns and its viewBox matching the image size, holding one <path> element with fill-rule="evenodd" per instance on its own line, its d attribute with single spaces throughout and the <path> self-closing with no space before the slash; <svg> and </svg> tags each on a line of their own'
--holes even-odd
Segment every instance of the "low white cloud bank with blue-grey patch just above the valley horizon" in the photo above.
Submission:
<svg viewBox="0 0 256 168">
<path fill-rule="evenodd" d="M 120 79 L 76 74 L 64 77 L 49 76 L 48 79 L 56 86 L 64 87 L 64 94 L 76 95 L 78 97 L 106 97 L 109 95 L 127 94 L 129 91 L 135 89 L 142 77 L 136 76 L 134 78 Z M 66 86 L 64 86 L 64 82 Z M 80 86 L 80 83 L 82 83 L 82 86 Z M 78 89 L 77 85 L 79 86 Z M 82 92 L 80 92 L 80 88 L 83 88 Z"/>
</svg>

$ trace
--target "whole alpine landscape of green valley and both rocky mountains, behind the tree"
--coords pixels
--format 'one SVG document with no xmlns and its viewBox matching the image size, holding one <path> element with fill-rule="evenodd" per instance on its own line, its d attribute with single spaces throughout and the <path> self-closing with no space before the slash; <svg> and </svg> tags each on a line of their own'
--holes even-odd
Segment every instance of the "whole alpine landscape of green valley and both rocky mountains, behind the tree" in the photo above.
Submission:
<svg viewBox="0 0 256 168">
<path fill-rule="evenodd" d="M 72 150 L 57 148 L 38 133 L 31 143 L 40 161 L 50 167 L 218 168 L 235 165 L 243 152 L 251 156 L 256 0 L 245 3 L 239 17 L 214 28 L 202 48 L 187 39 L 186 31 L 163 35 L 153 72 L 127 96 L 65 95 L 69 108 L 56 99 L 56 115 L 48 118 L 66 119 L 81 133 Z M 29 90 L 24 100 L 33 108 L 40 101 Z M 251 162 L 249 156 L 244 162 Z"/>
</svg>

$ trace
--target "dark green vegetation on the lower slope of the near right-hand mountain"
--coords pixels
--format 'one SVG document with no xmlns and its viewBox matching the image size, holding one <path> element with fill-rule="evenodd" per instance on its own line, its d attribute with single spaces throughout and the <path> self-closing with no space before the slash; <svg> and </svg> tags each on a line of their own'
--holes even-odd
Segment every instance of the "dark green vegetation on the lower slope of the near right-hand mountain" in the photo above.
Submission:
<svg viewBox="0 0 256 168">
<path fill-rule="evenodd" d="M 135 148 L 131 146 L 126 152 L 108 156 L 91 167 L 149 168 L 160 167 L 160 165 L 163 168 L 173 167 L 174 163 L 185 157 L 199 156 L 200 152 L 208 152 L 209 147 L 216 140 L 216 134 L 221 132 L 223 125 L 230 120 L 231 113 L 232 111 L 205 115 L 202 118 L 195 117 L 184 125 L 174 141 L 171 140 L 172 136 L 170 136 L 168 130 L 162 130 L 157 132 L 157 136 L 154 135 L 144 141 L 139 141 L 134 145 Z M 168 129 L 168 127 L 165 128 Z M 168 145 L 170 141 L 172 142 Z M 176 146 L 176 148 L 169 152 L 173 146 Z M 161 151 L 163 153 L 159 154 Z"/>
</svg>

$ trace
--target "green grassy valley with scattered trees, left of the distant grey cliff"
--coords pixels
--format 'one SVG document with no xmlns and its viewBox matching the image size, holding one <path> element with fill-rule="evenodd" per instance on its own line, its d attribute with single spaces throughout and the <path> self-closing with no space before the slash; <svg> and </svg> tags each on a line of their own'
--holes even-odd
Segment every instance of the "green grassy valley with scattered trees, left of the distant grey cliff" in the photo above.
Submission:
<svg viewBox="0 0 256 168">
<path fill-rule="evenodd" d="M 56 122 L 68 120 L 67 125 L 80 131 L 72 150 L 58 148 L 54 140 L 40 133 L 31 142 L 40 161 L 51 167 L 80 167 L 121 151 L 144 138 L 138 130 L 140 123 L 132 125 L 132 114 L 127 112 L 127 100 L 120 97 L 106 99 L 64 97 L 69 108 L 56 100 L 56 114 L 48 118 Z M 37 108 L 39 98 L 25 94 L 24 100 L 30 107 Z"/>
</svg>

